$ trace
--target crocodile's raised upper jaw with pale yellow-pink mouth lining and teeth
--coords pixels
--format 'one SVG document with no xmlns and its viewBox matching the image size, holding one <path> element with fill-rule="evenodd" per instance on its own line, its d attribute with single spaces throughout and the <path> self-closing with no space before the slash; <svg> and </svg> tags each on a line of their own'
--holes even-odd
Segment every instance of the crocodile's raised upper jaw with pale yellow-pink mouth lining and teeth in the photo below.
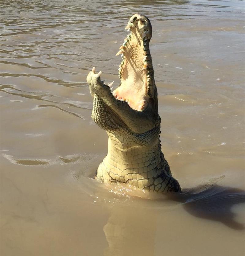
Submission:
<svg viewBox="0 0 245 256">
<path fill-rule="evenodd" d="M 152 27 L 147 17 L 135 14 L 130 18 L 125 29 L 130 33 L 116 54 L 122 56 L 119 65 L 121 84 L 112 91 L 112 94 L 117 100 L 127 102 L 132 109 L 142 111 L 149 102 L 151 87 L 154 85 L 149 51 Z"/>
</svg>

